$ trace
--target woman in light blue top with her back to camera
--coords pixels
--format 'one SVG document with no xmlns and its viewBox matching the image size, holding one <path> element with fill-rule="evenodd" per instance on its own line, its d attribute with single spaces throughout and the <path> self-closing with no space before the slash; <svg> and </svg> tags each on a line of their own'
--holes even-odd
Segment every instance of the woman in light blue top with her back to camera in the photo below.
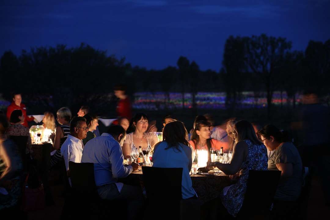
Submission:
<svg viewBox="0 0 330 220">
<path fill-rule="evenodd" d="M 197 196 L 192 188 L 189 175 L 194 151 L 189 146 L 187 138 L 187 130 L 181 121 L 166 124 L 163 131 L 163 141 L 155 145 L 152 156 L 154 167 L 183 168 L 182 199 Z"/>
</svg>

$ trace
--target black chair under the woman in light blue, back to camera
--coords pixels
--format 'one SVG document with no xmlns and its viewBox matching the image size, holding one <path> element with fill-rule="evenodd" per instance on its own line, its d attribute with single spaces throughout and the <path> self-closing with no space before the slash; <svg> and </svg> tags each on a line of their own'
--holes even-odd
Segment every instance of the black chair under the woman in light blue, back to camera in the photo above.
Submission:
<svg viewBox="0 0 330 220">
<path fill-rule="evenodd" d="M 182 168 L 142 167 L 148 215 L 169 219 L 199 219 L 198 200 L 182 200 Z M 191 210 L 194 209 L 192 212 Z"/>
</svg>

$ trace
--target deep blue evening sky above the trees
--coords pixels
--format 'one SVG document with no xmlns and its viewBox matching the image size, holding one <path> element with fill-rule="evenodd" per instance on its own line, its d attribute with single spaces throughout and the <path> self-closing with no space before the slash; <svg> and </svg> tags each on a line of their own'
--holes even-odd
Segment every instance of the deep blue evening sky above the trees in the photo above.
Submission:
<svg viewBox="0 0 330 220">
<path fill-rule="evenodd" d="M 148 69 L 183 55 L 218 71 L 230 35 L 285 37 L 298 50 L 330 39 L 329 9 L 328 0 L 1 0 L 0 54 L 85 42 Z"/>
</svg>

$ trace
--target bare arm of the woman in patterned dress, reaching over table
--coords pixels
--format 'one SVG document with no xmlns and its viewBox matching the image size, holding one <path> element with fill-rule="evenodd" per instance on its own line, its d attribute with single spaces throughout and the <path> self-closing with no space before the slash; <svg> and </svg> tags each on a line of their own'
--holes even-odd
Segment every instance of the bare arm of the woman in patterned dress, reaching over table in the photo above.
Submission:
<svg viewBox="0 0 330 220">
<path fill-rule="evenodd" d="M 208 162 L 208 167 L 216 166 L 223 173 L 227 175 L 233 175 L 240 170 L 243 164 L 243 160 L 247 155 L 247 152 L 248 152 L 248 144 L 244 141 L 240 141 L 234 147 L 230 164 Z"/>
</svg>

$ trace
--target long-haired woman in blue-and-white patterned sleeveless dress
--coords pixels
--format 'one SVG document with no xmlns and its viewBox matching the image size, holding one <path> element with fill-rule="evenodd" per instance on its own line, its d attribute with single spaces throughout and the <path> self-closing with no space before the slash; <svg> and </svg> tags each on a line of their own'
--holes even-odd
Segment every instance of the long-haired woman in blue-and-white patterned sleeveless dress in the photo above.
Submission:
<svg viewBox="0 0 330 220">
<path fill-rule="evenodd" d="M 221 203 L 227 212 L 236 217 L 240 211 L 247 190 L 249 170 L 267 170 L 268 157 L 265 145 L 255 135 L 250 122 L 242 120 L 235 124 L 233 136 L 235 146 L 229 164 L 209 162 L 208 166 L 216 166 L 225 174 L 238 175 L 237 182 L 227 186 L 220 193 Z"/>
</svg>

